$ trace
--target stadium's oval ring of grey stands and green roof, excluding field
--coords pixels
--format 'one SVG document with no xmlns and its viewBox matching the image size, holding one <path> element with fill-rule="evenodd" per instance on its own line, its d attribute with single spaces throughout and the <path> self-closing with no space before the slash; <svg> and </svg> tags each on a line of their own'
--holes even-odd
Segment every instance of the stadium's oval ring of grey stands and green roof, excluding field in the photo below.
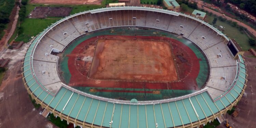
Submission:
<svg viewBox="0 0 256 128">
<path fill-rule="evenodd" d="M 99 97 L 63 84 L 58 56 L 77 37 L 111 27 L 137 26 L 183 35 L 208 57 L 210 78 L 195 93 L 163 100 L 116 100 Z M 23 81 L 33 99 L 54 116 L 74 126 L 113 128 L 199 127 L 226 114 L 246 88 L 246 64 L 232 41 L 195 17 L 144 7 L 112 7 L 63 18 L 30 44 L 23 62 Z"/>
</svg>

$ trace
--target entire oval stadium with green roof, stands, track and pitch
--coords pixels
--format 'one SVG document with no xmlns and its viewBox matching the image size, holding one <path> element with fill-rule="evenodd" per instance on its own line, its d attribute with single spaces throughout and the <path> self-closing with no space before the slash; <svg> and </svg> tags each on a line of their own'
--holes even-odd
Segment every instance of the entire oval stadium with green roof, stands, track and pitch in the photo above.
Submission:
<svg viewBox="0 0 256 128">
<path fill-rule="evenodd" d="M 48 26 L 30 44 L 22 74 L 32 99 L 74 127 L 192 128 L 241 99 L 241 54 L 195 17 L 112 7 Z"/>
</svg>

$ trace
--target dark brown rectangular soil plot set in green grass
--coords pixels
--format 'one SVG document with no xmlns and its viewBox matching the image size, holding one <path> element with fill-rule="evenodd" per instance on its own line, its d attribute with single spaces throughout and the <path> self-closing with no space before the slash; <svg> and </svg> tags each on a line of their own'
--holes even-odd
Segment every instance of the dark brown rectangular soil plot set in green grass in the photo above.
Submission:
<svg viewBox="0 0 256 128">
<path fill-rule="evenodd" d="M 71 7 L 35 7 L 29 14 L 29 18 L 46 18 L 51 17 L 65 17 L 69 16 Z"/>
</svg>

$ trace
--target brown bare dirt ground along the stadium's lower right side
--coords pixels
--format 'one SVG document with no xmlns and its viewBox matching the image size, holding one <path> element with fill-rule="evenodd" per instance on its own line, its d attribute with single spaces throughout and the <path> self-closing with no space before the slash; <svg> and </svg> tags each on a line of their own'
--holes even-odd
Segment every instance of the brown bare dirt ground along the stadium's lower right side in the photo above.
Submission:
<svg viewBox="0 0 256 128">
<path fill-rule="evenodd" d="M 239 114 L 237 117 L 232 117 L 227 114 L 228 122 L 232 126 L 232 128 L 255 128 L 256 122 L 255 122 L 255 115 L 256 115 L 256 100 L 255 100 L 255 94 L 256 87 L 255 87 L 255 77 L 256 77 L 256 59 L 252 57 L 246 57 L 246 56 L 252 56 L 251 53 L 246 52 L 244 54 L 244 59 L 246 68 L 247 68 L 247 87 L 245 89 L 244 95 L 239 101 L 237 105 L 237 110 L 239 111 Z M 226 116 L 224 116 L 226 118 Z M 226 128 L 224 125 L 220 125 L 217 128 Z"/>
</svg>

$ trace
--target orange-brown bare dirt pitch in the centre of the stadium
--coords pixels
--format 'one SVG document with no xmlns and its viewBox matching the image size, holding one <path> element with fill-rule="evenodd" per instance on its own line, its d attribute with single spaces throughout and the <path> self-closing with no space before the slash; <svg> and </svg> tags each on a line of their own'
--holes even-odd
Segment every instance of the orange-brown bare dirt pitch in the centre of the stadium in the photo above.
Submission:
<svg viewBox="0 0 256 128">
<path fill-rule="evenodd" d="M 92 79 L 128 81 L 178 80 L 166 41 L 99 40 L 90 69 Z"/>
</svg>

